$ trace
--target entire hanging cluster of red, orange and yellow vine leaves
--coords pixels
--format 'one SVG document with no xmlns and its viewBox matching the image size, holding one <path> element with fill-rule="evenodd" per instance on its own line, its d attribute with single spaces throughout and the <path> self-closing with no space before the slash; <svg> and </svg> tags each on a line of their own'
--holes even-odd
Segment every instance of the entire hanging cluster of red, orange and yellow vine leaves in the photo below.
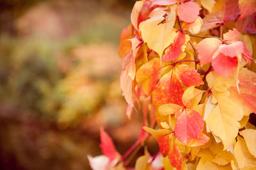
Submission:
<svg viewBox="0 0 256 170">
<path fill-rule="evenodd" d="M 145 147 L 135 169 L 256 169 L 255 23 L 255 0 L 136 1 L 120 36 L 120 84 L 127 116 L 143 112 L 134 146 L 150 134 L 159 153 Z M 125 169 L 132 148 L 121 156 L 100 135 L 93 169 Z"/>
</svg>

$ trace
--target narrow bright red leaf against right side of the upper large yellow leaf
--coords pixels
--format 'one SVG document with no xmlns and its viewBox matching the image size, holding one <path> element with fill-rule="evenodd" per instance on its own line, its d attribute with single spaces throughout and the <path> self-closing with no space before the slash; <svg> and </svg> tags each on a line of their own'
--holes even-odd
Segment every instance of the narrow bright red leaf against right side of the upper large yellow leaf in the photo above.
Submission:
<svg viewBox="0 0 256 170">
<path fill-rule="evenodd" d="M 175 37 L 174 43 L 169 47 L 169 51 L 162 58 L 162 61 L 172 61 L 179 57 L 181 46 L 185 43 L 186 36 L 184 33 L 179 32 Z"/>
</svg>

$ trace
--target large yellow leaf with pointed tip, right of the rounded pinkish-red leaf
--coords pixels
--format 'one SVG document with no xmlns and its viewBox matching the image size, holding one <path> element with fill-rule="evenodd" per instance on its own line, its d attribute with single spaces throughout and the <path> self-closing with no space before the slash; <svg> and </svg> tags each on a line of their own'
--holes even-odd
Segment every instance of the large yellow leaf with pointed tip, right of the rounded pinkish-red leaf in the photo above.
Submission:
<svg viewBox="0 0 256 170">
<path fill-rule="evenodd" d="M 212 109 L 205 122 L 212 134 L 220 137 L 224 150 L 227 150 L 237 136 L 240 127 L 238 121 L 244 116 L 243 108 L 228 97 L 218 97 L 217 101 L 218 105 Z"/>
</svg>

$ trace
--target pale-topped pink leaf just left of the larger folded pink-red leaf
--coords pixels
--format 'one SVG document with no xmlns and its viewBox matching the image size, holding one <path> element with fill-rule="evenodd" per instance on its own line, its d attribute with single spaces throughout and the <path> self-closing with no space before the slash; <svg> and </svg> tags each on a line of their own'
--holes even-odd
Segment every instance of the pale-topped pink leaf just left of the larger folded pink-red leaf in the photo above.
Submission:
<svg viewBox="0 0 256 170">
<path fill-rule="evenodd" d="M 221 43 L 217 38 L 205 38 L 198 43 L 198 58 L 200 59 L 201 66 L 211 63 L 212 56 L 220 47 Z"/>
</svg>

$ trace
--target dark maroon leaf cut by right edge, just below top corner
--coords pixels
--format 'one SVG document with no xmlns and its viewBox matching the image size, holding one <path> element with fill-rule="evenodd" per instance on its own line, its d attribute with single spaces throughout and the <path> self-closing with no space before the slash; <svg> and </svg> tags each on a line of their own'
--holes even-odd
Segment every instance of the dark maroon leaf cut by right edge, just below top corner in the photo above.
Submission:
<svg viewBox="0 0 256 170">
<path fill-rule="evenodd" d="M 256 34 L 256 13 L 237 21 L 236 27 L 243 34 Z"/>
</svg>

